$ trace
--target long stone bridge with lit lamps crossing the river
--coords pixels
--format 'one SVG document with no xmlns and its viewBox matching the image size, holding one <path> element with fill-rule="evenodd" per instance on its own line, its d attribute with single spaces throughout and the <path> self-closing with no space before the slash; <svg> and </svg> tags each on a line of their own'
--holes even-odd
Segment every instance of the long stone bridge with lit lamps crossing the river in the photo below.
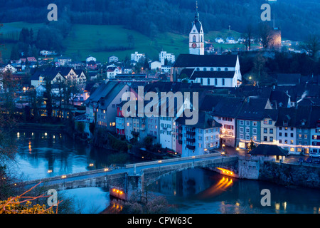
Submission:
<svg viewBox="0 0 320 228">
<path fill-rule="evenodd" d="M 158 160 L 151 162 L 141 162 L 125 165 L 119 168 L 105 168 L 79 172 L 58 177 L 48 177 L 40 180 L 29 180 L 21 183 L 26 189 L 39 184 L 46 188 L 55 190 L 68 190 L 82 187 L 115 187 L 121 190 L 124 195 L 134 190 L 144 190 L 144 187 L 159 180 L 164 175 L 172 172 L 192 168 L 209 168 L 217 172 L 216 169 L 224 168 L 230 170 L 228 175 L 238 177 L 238 157 L 221 156 L 220 153 L 199 155 L 192 157 L 180 157 L 168 160 Z"/>
</svg>

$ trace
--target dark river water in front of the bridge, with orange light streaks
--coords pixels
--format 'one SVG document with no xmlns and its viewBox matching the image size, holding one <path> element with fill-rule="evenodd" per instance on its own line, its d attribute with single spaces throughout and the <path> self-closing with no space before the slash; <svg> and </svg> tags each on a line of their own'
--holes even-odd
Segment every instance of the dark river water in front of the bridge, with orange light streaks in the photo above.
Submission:
<svg viewBox="0 0 320 228">
<path fill-rule="evenodd" d="M 240 180 L 210 170 L 184 170 L 162 177 L 153 191 L 166 195 L 181 214 L 320 214 L 319 190 L 287 188 L 269 182 Z M 261 205 L 261 190 L 271 192 L 271 206 Z"/>
</svg>

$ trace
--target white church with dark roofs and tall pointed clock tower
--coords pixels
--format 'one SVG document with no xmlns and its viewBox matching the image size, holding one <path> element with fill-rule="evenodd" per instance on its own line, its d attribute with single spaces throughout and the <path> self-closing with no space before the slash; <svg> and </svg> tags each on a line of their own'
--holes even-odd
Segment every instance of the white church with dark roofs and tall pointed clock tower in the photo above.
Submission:
<svg viewBox="0 0 320 228">
<path fill-rule="evenodd" d="M 198 6 L 189 33 L 189 53 L 180 54 L 171 68 L 171 81 L 202 86 L 238 87 L 242 82 L 238 55 L 205 55 L 203 25 Z"/>
</svg>

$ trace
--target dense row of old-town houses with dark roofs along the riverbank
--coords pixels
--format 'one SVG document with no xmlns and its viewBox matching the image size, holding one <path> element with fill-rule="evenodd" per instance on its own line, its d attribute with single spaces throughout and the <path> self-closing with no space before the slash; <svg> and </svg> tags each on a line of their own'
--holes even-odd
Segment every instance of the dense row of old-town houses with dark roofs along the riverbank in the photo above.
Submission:
<svg viewBox="0 0 320 228">
<path fill-rule="evenodd" d="M 152 82 L 128 86 L 108 81 L 86 100 L 86 120 L 124 135 L 127 140 L 151 137 L 154 143 L 181 156 L 203 155 L 223 144 L 247 149 L 252 142 L 277 145 L 289 154 L 320 156 L 319 84 L 310 81 L 307 84 L 229 87 L 228 92 L 220 93 L 225 88 L 200 83 Z M 130 100 L 137 100 L 138 86 L 144 86 L 144 93 L 197 92 L 199 99 L 183 103 L 183 108 L 185 105 L 194 108 L 193 102 L 198 102 L 198 122 L 186 125 L 186 116 L 177 115 L 124 117 L 122 107 L 127 100 L 122 100 L 122 94 L 132 92 Z M 309 95 L 305 95 L 306 91 Z"/>
</svg>

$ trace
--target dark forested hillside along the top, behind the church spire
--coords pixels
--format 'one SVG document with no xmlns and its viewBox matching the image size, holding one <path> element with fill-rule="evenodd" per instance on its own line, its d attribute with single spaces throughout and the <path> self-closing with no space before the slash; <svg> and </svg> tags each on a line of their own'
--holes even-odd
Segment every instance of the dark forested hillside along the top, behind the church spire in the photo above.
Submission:
<svg viewBox="0 0 320 228">
<path fill-rule="evenodd" d="M 1 23 L 26 21 L 48 22 L 49 0 L 11 0 L 0 2 Z M 205 32 L 231 28 L 244 32 L 247 24 L 258 24 L 265 0 L 198 0 L 200 19 Z M 147 36 L 157 32 L 188 33 L 196 10 L 195 0 L 56 0 L 58 20 L 71 24 L 124 25 Z M 282 36 L 304 40 L 310 33 L 320 31 L 318 0 L 278 0 L 272 4 L 275 26 Z M 256 23 L 255 23 L 256 22 Z M 298 31 L 298 32 L 297 32 Z"/>
</svg>

